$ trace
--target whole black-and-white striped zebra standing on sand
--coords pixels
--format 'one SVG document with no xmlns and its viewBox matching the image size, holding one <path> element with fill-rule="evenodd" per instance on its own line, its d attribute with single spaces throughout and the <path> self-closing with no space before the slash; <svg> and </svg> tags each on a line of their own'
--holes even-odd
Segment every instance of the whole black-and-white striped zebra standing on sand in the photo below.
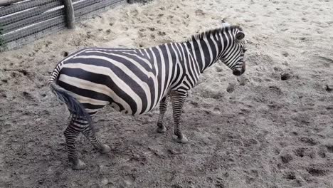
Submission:
<svg viewBox="0 0 333 188">
<path fill-rule="evenodd" d="M 157 132 L 163 133 L 167 99 L 171 98 L 176 141 L 188 142 L 180 128 L 188 91 L 201 73 L 219 60 L 233 75 L 242 75 L 244 37 L 240 26 L 223 23 L 180 43 L 151 48 L 83 48 L 60 61 L 48 85 L 70 111 L 64 135 L 72 168 L 86 167 L 75 147 L 81 132 L 99 152 L 110 152 L 110 147 L 95 136 L 92 123 L 92 117 L 105 105 L 132 115 L 148 113 L 159 105 Z"/>
</svg>

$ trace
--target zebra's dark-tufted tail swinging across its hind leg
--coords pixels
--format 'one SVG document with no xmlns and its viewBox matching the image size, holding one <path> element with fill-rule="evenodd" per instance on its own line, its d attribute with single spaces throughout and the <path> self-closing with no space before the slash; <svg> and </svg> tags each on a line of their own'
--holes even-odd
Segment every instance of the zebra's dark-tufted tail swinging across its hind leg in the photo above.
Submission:
<svg viewBox="0 0 333 188">
<path fill-rule="evenodd" d="M 57 85 L 54 80 L 51 79 L 48 85 L 50 86 L 52 93 L 56 95 L 58 100 L 67 105 L 68 110 L 70 110 L 71 116 L 74 117 L 75 120 L 78 119 L 78 117 L 84 117 L 85 120 L 88 121 L 90 129 L 93 130 L 93 132 L 95 132 L 95 127 L 93 126 L 93 120 L 90 117 L 87 110 L 85 110 L 83 105 L 80 102 L 78 102 L 78 100 L 74 98 L 73 95 L 71 95 L 67 90 Z"/>
</svg>

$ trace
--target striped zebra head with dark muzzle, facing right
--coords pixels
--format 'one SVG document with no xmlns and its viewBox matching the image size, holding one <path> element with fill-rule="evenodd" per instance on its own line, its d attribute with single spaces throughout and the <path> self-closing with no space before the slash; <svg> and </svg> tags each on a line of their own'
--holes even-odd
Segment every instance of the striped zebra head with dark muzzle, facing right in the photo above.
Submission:
<svg viewBox="0 0 333 188">
<path fill-rule="evenodd" d="M 223 22 L 223 21 L 222 21 Z M 233 71 L 233 75 L 242 75 L 245 72 L 244 53 L 246 51 L 245 34 L 238 26 L 230 26 L 223 22 L 223 35 L 225 37 L 226 48 L 221 54 L 220 60 Z"/>
</svg>

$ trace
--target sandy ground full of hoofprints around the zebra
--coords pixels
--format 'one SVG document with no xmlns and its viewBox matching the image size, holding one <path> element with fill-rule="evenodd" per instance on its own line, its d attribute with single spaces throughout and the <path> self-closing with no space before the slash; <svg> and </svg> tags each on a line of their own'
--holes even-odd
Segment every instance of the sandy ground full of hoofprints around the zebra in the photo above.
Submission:
<svg viewBox="0 0 333 188">
<path fill-rule="evenodd" d="M 149 47 L 239 23 L 248 40 L 240 78 L 222 63 L 204 73 L 183 115 L 187 145 L 155 132 L 158 110 L 105 108 L 100 155 L 78 139 L 88 169 L 73 171 L 68 112 L 48 75 L 85 46 Z M 0 54 L 0 187 L 333 187 L 333 1 L 156 0 L 112 9 Z"/>
</svg>

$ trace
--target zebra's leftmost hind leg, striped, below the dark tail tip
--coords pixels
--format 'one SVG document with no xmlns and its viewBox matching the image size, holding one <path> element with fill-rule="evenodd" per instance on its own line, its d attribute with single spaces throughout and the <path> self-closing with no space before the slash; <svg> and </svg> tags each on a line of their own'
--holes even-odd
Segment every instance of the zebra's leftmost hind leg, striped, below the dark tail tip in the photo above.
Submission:
<svg viewBox="0 0 333 188">
<path fill-rule="evenodd" d="M 68 152 L 68 160 L 73 164 L 73 169 L 85 169 L 86 165 L 83 161 L 79 160 L 78 152 L 76 152 L 75 140 L 81 132 L 80 126 L 75 122 L 74 118 L 70 120 L 68 127 L 63 135 L 65 135 L 66 147 Z"/>
</svg>

